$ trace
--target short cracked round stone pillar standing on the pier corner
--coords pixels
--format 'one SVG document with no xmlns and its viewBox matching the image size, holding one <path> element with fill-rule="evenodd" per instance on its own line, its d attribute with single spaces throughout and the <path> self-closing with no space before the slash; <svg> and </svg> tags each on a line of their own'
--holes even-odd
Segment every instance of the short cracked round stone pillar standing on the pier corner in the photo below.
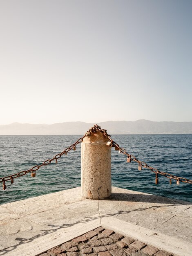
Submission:
<svg viewBox="0 0 192 256">
<path fill-rule="evenodd" d="M 81 191 L 84 198 L 107 198 L 112 192 L 111 148 L 102 132 L 96 131 L 81 143 Z"/>
</svg>

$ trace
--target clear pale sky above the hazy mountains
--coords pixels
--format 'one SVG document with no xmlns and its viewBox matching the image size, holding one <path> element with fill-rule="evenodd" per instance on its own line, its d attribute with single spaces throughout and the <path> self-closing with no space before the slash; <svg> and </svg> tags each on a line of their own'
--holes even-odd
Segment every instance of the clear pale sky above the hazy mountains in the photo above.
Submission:
<svg viewBox="0 0 192 256">
<path fill-rule="evenodd" d="M 0 0 L 0 124 L 192 121 L 191 0 Z"/>
</svg>

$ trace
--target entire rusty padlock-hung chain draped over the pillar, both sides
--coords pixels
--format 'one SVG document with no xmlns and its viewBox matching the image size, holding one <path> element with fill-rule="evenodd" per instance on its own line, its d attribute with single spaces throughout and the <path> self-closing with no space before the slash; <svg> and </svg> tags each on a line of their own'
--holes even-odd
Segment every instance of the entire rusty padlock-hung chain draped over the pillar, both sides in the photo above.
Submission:
<svg viewBox="0 0 192 256">
<path fill-rule="evenodd" d="M 189 179 L 186 179 L 186 178 L 183 178 L 183 177 L 177 177 L 175 175 L 172 175 L 170 173 L 164 173 L 162 171 L 159 171 L 158 169 L 154 168 L 154 167 L 151 167 L 149 166 L 148 164 L 146 164 L 145 162 L 143 161 L 140 161 L 138 159 L 136 159 L 136 157 L 134 155 L 130 155 L 129 153 L 127 153 L 127 151 L 124 149 L 124 148 L 121 148 L 113 139 L 111 139 L 111 135 L 109 135 L 107 133 L 107 130 L 104 130 L 104 129 L 101 129 L 100 126 L 98 126 L 97 124 L 95 124 L 92 128 L 90 128 L 86 133 L 85 135 L 83 135 L 83 137 L 80 137 L 74 144 L 71 144 L 71 146 L 69 146 L 68 148 L 66 148 L 65 150 L 63 150 L 63 152 L 55 155 L 53 158 L 51 159 L 47 159 L 45 160 L 42 164 L 40 165 L 35 165 L 33 166 L 31 169 L 27 170 L 27 171 L 20 171 L 18 173 L 15 173 L 13 175 L 9 175 L 9 176 L 5 176 L 5 177 L 0 177 L 0 182 L 3 183 L 3 189 L 5 190 L 7 188 L 7 186 L 5 185 L 5 182 L 6 181 L 9 181 L 11 180 L 11 184 L 13 184 L 14 182 L 14 179 L 17 178 L 17 177 L 21 177 L 21 176 L 24 176 L 26 175 L 27 173 L 31 173 L 31 176 L 32 177 L 35 177 L 36 176 L 36 171 L 39 170 L 39 168 L 41 166 L 46 166 L 48 164 L 51 164 L 52 161 L 56 161 L 56 164 L 58 162 L 58 159 L 62 156 L 62 155 L 67 155 L 67 152 L 69 152 L 71 149 L 74 149 L 76 150 L 76 145 L 80 144 L 83 139 L 86 137 L 86 136 L 89 136 L 91 135 L 91 133 L 95 133 L 96 131 L 99 131 L 99 132 L 102 132 L 103 135 L 109 139 L 109 141 L 107 142 L 107 146 L 109 146 L 109 148 L 112 148 L 114 147 L 115 150 L 118 150 L 119 153 L 123 153 L 124 155 L 127 155 L 127 162 L 130 163 L 131 161 L 134 161 L 134 162 L 137 162 L 138 163 L 138 170 L 141 171 L 142 170 L 142 167 L 143 168 L 147 168 L 149 169 L 150 171 L 152 171 L 153 173 L 156 174 L 156 179 L 155 179 L 155 183 L 158 184 L 159 183 L 159 178 L 158 178 L 158 174 L 160 175 L 163 175 L 165 176 L 166 178 L 170 179 L 170 184 L 172 182 L 172 179 L 173 180 L 176 180 L 176 183 L 179 185 L 179 182 L 184 182 L 184 183 L 189 183 L 189 184 L 192 184 L 192 180 L 189 180 Z"/>
</svg>

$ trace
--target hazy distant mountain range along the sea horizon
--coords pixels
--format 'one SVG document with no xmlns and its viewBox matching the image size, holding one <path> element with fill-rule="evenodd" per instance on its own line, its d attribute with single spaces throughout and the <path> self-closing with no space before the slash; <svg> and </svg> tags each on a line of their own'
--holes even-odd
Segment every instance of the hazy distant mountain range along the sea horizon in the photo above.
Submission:
<svg viewBox="0 0 192 256">
<path fill-rule="evenodd" d="M 0 125 L 0 135 L 64 135 L 84 134 L 94 124 L 84 122 L 65 122 L 57 124 L 20 124 Z M 192 133 L 192 122 L 154 122 L 107 121 L 98 123 L 109 134 L 174 134 Z"/>
</svg>

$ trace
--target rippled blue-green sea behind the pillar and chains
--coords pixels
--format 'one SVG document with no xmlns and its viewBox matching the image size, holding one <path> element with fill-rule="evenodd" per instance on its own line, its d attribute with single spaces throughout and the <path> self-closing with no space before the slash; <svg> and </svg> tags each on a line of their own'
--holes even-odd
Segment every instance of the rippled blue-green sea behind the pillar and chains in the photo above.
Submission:
<svg viewBox="0 0 192 256">
<path fill-rule="evenodd" d="M 81 135 L 0 136 L 0 177 L 28 170 L 34 165 L 51 159 L 73 144 Z M 112 135 L 127 153 L 160 171 L 192 180 L 192 134 L 175 135 Z M 80 186 L 80 144 L 76 151 L 42 166 L 36 177 L 30 173 L 18 177 L 13 184 L 6 182 L 7 190 L 0 188 L 0 204 L 45 195 Z M 144 169 L 138 164 L 126 163 L 126 156 L 112 148 L 112 185 L 169 198 L 192 202 L 192 184 L 176 181 Z M 2 185 L 2 183 L 0 183 Z"/>
</svg>

